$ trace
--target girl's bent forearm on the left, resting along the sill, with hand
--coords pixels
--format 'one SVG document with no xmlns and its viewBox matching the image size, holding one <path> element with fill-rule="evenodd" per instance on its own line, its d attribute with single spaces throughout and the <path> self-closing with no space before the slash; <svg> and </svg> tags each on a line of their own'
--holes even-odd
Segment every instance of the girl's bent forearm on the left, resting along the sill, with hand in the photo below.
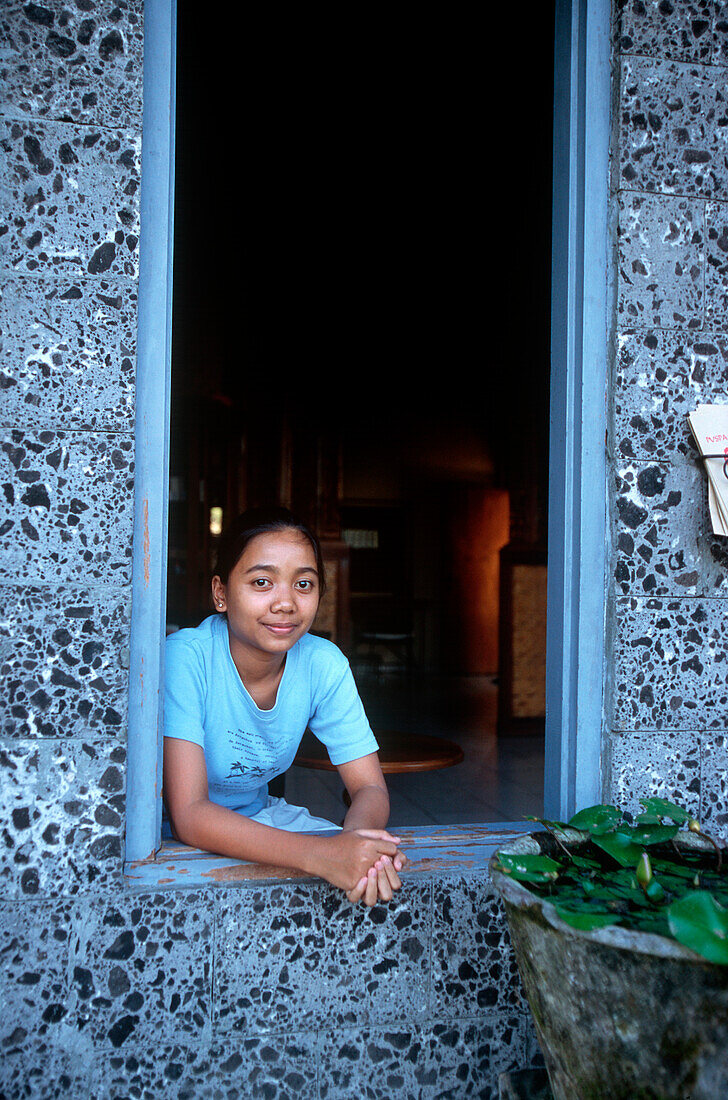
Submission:
<svg viewBox="0 0 728 1100">
<path fill-rule="evenodd" d="M 346 829 L 331 837 L 288 833 L 210 802 L 202 748 L 176 737 L 164 741 L 164 798 L 183 844 L 316 875 L 345 890 L 352 901 L 367 900 L 364 890 L 356 895 L 357 887 L 378 860 L 397 853 L 396 838 L 383 829 Z"/>
</svg>

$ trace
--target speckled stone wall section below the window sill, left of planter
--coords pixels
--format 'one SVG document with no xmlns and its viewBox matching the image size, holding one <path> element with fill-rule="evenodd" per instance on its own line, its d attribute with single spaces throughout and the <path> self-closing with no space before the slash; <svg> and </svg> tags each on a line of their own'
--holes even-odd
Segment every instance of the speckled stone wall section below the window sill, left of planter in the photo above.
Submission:
<svg viewBox="0 0 728 1100">
<path fill-rule="evenodd" d="M 279 882 L 0 915 L 7 1098 L 495 1098 L 538 1059 L 482 871 L 372 910 Z"/>
</svg>

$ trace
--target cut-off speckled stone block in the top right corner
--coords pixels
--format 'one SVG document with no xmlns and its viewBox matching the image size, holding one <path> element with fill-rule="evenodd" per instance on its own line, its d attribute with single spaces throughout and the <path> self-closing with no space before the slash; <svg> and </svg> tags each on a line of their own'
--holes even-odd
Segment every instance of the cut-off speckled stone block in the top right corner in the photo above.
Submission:
<svg viewBox="0 0 728 1100">
<path fill-rule="evenodd" d="M 618 46 L 622 54 L 643 54 L 680 62 L 708 63 L 719 55 L 715 0 L 619 0 Z M 716 45 L 714 46 L 714 43 Z"/>
</svg>

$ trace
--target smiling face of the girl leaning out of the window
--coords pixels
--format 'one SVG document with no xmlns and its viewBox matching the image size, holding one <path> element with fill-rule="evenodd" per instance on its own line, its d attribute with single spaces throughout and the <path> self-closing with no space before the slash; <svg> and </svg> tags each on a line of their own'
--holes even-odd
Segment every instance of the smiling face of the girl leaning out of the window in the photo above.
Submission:
<svg viewBox="0 0 728 1100">
<path fill-rule="evenodd" d="M 311 543 L 284 529 L 252 539 L 223 584 L 212 579 L 216 608 L 228 614 L 231 649 L 286 653 L 316 618 L 319 574 Z"/>
</svg>

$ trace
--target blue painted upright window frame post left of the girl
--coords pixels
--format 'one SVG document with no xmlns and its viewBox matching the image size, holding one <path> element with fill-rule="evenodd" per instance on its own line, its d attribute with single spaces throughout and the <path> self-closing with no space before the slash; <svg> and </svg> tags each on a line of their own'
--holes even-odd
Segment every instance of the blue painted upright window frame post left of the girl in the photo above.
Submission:
<svg viewBox="0 0 728 1100">
<path fill-rule="evenodd" d="M 169 492 L 176 14 L 175 0 L 145 0 L 134 547 L 126 760 L 128 860 L 152 856 L 159 847 L 162 832 L 162 685 Z"/>
</svg>

